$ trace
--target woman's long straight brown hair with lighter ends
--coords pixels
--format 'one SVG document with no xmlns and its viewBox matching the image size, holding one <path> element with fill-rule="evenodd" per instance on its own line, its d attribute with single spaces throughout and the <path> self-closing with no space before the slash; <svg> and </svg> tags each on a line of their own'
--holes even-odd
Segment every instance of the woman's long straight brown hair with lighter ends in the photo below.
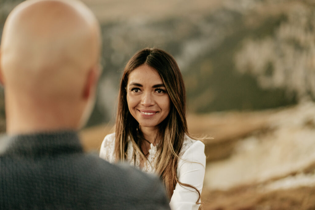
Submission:
<svg viewBox="0 0 315 210">
<path fill-rule="evenodd" d="M 174 58 L 165 51 L 157 48 L 145 48 L 137 52 L 127 63 L 120 82 L 117 118 L 116 118 L 116 140 L 115 154 L 117 161 L 124 161 L 127 157 L 127 142 L 131 140 L 136 151 L 146 159 L 140 149 L 141 138 L 139 138 L 139 123 L 130 114 L 127 104 L 126 87 L 131 71 L 140 65 L 149 65 L 154 68 L 165 85 L 171 101 L 169 115 L 159 124 L 157 133 L 157 157 L 156 172 L 160 174 L 166 187 L 169 198 L 173 195 L 176 183 L 191 187 L 199 195 L 199 190 L 190 185 L 181 183 L 177 177 L 177 163 L 180 158 L 180 150 L 183 145 L 185 133 L 188 134 L 186 123 L 186 94 L 182 75 Z M 134 155 L 135 158 L 135 155 Z M 167 164 L 166 164 L 167 163 Z"/>
</svg>

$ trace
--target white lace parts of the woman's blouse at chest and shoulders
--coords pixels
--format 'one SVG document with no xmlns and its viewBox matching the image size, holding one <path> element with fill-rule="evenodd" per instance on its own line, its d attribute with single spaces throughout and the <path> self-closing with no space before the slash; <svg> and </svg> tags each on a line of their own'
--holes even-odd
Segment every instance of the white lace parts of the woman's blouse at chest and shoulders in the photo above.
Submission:
<svg viewBox="0 0 315 210">
<path fill-rule="evenodd" d="M 186 152 L 186 150 L 195 142 L 189 138 L 187 135 L 184 137 L 184 142 L 182 149 L 180 151 L 180 157 Z M 135 151 L 135 159 L 133 158 L 134 148 L 131 141 L 128 141 L 127 146 L 127 162 L 130 165 L 135 166 L 136 168 L 146 172 L 146 173 L 155 173 L 155 168 L 157 165 L 157 145 L 150 145 L 151 149 L 149 150 L 149 155 L 147 156 L 147 160 L 144 162 L 143 168 L 140 168 L 141 156 L 138 151 Z M 101 145 L 100 148 L 100 157 L 107 160 L 108 162 L 115 162 L 115 133 L 111 133 L 107 135 Z M 177 169 L 178 172 L 178 169 Z"/>
</svg>

